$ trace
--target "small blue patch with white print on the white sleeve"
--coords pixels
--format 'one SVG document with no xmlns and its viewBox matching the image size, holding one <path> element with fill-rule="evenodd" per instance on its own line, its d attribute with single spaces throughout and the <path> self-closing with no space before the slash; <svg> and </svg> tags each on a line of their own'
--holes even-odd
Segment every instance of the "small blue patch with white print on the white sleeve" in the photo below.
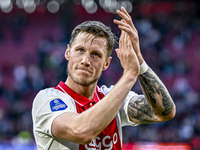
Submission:
<svg viewBox="0 0 200 150">
<path fill-rule="evenodd" d="M 61 99 L 54 99 L 50 102 L 51 111 L 65 110 L 68 106 Z"/>
</svg>

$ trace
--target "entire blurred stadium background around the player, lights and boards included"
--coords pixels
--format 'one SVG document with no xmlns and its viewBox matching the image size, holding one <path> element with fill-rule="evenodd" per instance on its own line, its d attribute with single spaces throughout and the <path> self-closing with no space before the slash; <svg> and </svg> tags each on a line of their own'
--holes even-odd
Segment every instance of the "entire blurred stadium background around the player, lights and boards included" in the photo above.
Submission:
<svg viewBox="0 0 200 150">
<path fill-rule="evenodd" d="M 66 45 L 85 20 L 113 23 L 124 6 L 149 66 L 169 89 L 174 119 L 124 127 L 124 150 L 200 149 L 200 9 L 192 0 L 0 0 L 0 149 L 35 150 L 31 105 L 36 93 L 66 79 Z M 117 45 L 116 45 L 117 47 Z M 122 68 L 113 52 L 100 79 L 115 84 Z M 133 90 L 141 93 L 139 83 Z"/>
</svg>

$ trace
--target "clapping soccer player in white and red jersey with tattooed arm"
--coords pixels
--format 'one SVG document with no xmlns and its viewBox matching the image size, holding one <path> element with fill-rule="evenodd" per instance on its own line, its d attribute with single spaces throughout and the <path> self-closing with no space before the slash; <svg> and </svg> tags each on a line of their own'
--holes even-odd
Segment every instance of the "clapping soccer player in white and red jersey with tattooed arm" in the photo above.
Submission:
<svg viewBox="0 0 200 150">
<path fill-rule="evenodd" d="M 86 21 L 72 32 L 65 52 L 68 77 L 34 99 L 32 118 L 39 150 L 121 150 L 122 126 L 163 122 L 175 116 L 166 87 L 145 63 L 138 32 L 122 7 L 115 51 L 123 75 L 111 87 L 98 87 L 108 69 L 115 36 L 98 21 Z M 130 91 L 139 79 L 144 95 Z"/>
</svg>

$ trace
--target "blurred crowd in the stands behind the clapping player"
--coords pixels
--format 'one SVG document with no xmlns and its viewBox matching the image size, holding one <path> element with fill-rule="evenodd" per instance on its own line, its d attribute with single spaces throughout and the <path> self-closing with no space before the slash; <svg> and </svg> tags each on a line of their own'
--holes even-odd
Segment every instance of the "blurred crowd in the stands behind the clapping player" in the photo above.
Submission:
<svg viewBox="0 0 200 150">
<path fill-rule="evenodd" d="M 133 12 L 131 16 L 139 32 L 143 57 L 167 86 L 177 113 L 174 119 L 164 123 L 124 127 L 123 142 L 186 142 L 193 149 L 200 149 L 200 67 L 197 65 L 200 62 L 200 14 L 197 10 L 188 10 L 155 15 Z M 27 16 L 15 19 L 10 26 L 14 41 L 20 44 L 23 41 L 23 34 L 20 33 L 26 32 L 28 19 Z M 66 79 L 64 51 L 69 42 L 69 32 L 76 23 L 71 23 L 69 28 L 69 22 L 60 19 L 61 38 L 55 40 L 53 36 L 44 36 L 36 43 L 36 58 L 31 56 L 28 60 L 24 59 L 24 63 L 11 66 L 4 61 L 0 65 L 0 143 L 34 145 L 33 98 L 39 90 L 56 86 Z M 110 22 L 102 21 L 110 25 L 119 37 L 120 31 L 111 23 L 113 17 L 109 19 Z M 67 28 L 63 27 L 66 25 Z M 0 24 L 0 55 L 9 53 L 1 49 L 5 38 L 3 29 L 3 24 Z M 112 57 L 110 69 L 103 72 L 99 86 L 115 84 L 122 74 L 114 51 Z M 30 63 L 31 60 L 34 61 Z M 139 82 L 133 90 L 142 93 Z"/>
</svg>

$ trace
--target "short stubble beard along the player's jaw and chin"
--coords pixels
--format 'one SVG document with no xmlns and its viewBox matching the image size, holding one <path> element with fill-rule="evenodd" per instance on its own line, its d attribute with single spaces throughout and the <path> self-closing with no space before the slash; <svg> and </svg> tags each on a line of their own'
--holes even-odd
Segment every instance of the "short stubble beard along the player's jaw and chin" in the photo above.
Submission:
<svg viewBox="0 0 200 150">
<path fill-rule="evenodd" d="M 100 76 L 97 76 L 96 78 L 92 78 L 92 79 L 87 79 L 84 77 L 78 78 L 73 75 L 73 73 L 69 70 L 68 66 L 67 66 L 67 74 L 68 74 L 68 76 L 71 77 L 71 79 L 73 80 L 74 83 L 84 86 L 84 87 L 90 86 L 93 83 L 97 82 L 101 76 L 101 74 L 100 74 Z"/>
</svg>

